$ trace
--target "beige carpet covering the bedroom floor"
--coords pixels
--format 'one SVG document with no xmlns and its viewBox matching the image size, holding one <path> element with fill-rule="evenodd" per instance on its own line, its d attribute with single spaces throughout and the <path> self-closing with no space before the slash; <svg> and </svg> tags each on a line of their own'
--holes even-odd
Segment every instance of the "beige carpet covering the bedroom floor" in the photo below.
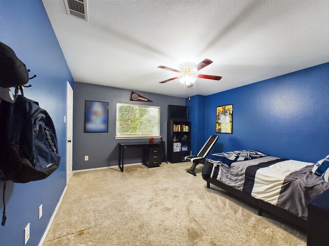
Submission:
<svg viewBox="0 0 329 246">
<path fill-rule="evenodd" d="M 306 245 L 305 231 L 206 188 L 199 165 L 74 173 L 43 245 Z"/>
</svg>

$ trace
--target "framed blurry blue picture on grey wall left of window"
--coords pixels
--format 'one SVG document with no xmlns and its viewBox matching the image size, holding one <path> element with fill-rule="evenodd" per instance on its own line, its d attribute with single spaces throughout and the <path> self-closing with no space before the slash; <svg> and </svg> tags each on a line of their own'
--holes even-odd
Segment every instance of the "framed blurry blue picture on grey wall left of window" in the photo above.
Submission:
<svg viewBox="0 0 329 246">
<path fill-rule="evenodd" d="M 85 100 L 84 132 L 108 132 L 108 103 Z"/>
</svg>

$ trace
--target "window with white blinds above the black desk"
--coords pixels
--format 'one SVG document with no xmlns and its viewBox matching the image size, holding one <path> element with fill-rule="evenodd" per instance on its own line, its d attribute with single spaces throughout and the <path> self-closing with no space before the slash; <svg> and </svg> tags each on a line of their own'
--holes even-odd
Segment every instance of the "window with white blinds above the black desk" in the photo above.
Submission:
<svg viewBox="0 0 329 246">
<path fill-rule="evenodd" d="M 160 107 L 117 103 L 116 138 L 160 136 Z"/>
</svg>

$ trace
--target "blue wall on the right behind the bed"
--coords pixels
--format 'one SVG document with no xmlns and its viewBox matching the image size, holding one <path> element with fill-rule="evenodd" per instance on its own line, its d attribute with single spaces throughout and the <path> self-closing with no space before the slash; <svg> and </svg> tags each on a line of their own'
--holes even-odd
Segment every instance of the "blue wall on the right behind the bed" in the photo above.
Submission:
<svg viewBox="0 0 329 246">
<path fill-rule="evenodd" d="M 309 162 L 329 154 L 329 63 L 207 96 L 205 137 L 215 133 L 216 107 L 226 104 L 233 104 L 233 134 L 219 134 L 216 152 L 255 149 Z"/>
</svg>

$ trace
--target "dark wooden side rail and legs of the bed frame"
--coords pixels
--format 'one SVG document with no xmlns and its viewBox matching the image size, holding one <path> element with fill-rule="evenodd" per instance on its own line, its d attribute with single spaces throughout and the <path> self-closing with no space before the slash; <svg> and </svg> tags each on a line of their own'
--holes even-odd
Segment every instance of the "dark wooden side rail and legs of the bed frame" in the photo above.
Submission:
<svg viewBox="0 0 329 246">
<path fill-rule="evenodd" d="M 208 179 L 206 179 L 206 181 L 207 181 L 207 188 L 210 188 L 210 183 L 212 183 L 212 185 L 219 187 L 219 188 L 231 193 L 232 195 L 251 203 L 252 205 L 254 205 L 255 207 L 258 208 L 259 215 L 262 215 L 262 211 L 265 210 L 265 211 L 269 212 L 270 214 L 273 214 L 281 219 L 286 220 L 287 222 L 290 222 L 291 224 L 294 224 L 295 226 L 298 226 L 304 230 L 307 229 L 307 221 L 298 217 L 297 215 L 291 214 L 290 212 L 288 212 L 284 209 L 281 209 L 277 206 L 274 206 L 266 201 L 254 198 L 247 193 L 244 193 L 244 192 L 236 190 L 230 186 L 227 186 L 224 183 L 218 181 L 217 179 L 208 178 Z"/>
</svg>

